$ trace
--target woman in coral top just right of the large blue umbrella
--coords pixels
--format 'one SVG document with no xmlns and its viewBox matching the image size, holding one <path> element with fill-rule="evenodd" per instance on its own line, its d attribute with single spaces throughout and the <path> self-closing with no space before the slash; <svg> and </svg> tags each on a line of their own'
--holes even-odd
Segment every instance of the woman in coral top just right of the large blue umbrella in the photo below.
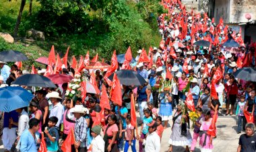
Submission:
<svg viewBox="0 0 256 152">
<path fill-rule="evenodd" d="M 39 109 L 38 103 L 32 100 L 32 102 L 30 102 L 29 110 L 30 110 L 30 116 L 29 116 L 30 119 L 36 118 L 40 120 L 38 132 L 41 133 L 42 132 L 42 112 Z"/>
</svg>

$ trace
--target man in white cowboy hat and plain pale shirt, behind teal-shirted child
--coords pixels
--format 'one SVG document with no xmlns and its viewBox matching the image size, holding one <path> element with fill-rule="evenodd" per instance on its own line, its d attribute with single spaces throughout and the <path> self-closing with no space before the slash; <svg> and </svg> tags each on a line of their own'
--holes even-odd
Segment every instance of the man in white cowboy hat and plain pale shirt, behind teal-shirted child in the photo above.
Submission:
<svg viewBox="0 0 256 152">
<path fill-rule="evenodd" d="M 64 107 L 60 102 L 62 98 L 59 96 L 59 93 L 57 91 L 52 91 L 51 93 L 48 93 L 46 95 L 46 98 L 50 98 L 53 104 L 53 109 L 50 112 L 49 118 L 51 116 L 56 116 L 58 118 L 58 122 L 56 126 L 59 127 L 63 120 L 63 114 L 64 114 Z"/>
</svg>

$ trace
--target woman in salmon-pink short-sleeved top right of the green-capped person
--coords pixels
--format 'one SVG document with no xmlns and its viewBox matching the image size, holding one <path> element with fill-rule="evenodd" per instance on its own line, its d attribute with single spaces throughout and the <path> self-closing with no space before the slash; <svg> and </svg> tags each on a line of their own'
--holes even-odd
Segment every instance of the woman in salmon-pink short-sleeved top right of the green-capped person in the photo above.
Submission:
<svg viewBox="0 0 256 152">
<path fill-rule="evenodd" d="M 105 142 L 105 151 L 119 151 L 117 149 L 117 132 L 119 128 L 117 126 L 117 116 L 115 114 L 111 114 L 108 116 L 108 124 L 106 125 L 106 129 L 104 129 L 104 137 L 103 140 Z"/>
</svg>

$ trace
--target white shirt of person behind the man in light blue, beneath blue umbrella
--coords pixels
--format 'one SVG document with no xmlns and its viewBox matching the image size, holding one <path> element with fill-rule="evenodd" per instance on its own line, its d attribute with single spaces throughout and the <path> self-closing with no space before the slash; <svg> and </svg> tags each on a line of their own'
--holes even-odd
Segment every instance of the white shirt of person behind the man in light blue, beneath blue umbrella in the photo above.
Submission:
<svg viewBox="0 0 256 152">
<path fill-rule="evenodd" d="M 28 113 L 25 110 L 22 110 L 18 120 L 18 136 L 22 135 L 22 132 L 28 129 L 29 120 Z"/>
</svg>

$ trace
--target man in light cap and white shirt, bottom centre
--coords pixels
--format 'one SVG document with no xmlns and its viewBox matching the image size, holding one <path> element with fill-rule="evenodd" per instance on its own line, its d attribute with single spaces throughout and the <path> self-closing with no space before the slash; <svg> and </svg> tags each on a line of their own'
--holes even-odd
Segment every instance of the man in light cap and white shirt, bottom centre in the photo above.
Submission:
<svg viewBox="0 0 256 152">
<path fill-rule="evenodd" d="M 160 137 L 158 136 L 156 132 L 156 128 L 158 127 L 158 123 L 153 120 L 151 123 L 148 123 L 148 132 L 149 135 L 146 137 L 146 139 L 139 139 L 143 145 L 145 145 L 145 151 L 147 152 L 160 152 L 161 149 L 161 143 L 160 143 Z"/>
</svg>

